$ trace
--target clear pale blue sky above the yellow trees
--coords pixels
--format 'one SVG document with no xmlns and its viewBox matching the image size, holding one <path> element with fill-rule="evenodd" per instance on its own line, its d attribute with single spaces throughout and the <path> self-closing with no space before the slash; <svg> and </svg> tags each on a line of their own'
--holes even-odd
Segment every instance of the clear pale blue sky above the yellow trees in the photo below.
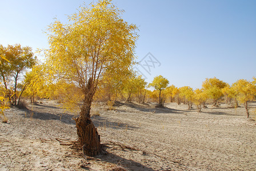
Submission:
<svg viewBox="0 0 256 171">
<path fill-rule="evenodd" d="M 83 2 L 97 1 L 0 0 L 0 44 L 47 48 L 43 31 L 54 18 L 66 23 Z M 137 68 L 147 82 L 162 75 L 176 87 L 201 88 L 214 76 L 229 84 L 256 77 L 255 0 L 112 2 L 139 28 Z"/>
</svg>

